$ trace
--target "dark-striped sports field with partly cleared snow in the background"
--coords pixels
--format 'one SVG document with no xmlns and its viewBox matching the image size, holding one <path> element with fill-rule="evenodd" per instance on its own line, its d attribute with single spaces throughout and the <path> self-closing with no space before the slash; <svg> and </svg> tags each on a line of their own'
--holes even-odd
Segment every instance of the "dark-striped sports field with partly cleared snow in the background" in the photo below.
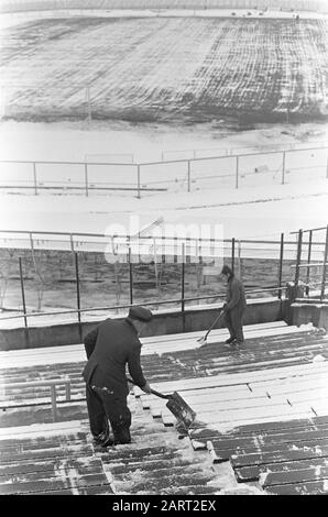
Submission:
<svg viewBox="0 0 328 517">
<path fill-rule="evenodd" d="M 67 18 L 1 31 L 2 116 L 197 123 L 327 117 L 327 19 Z"/>
</svg>

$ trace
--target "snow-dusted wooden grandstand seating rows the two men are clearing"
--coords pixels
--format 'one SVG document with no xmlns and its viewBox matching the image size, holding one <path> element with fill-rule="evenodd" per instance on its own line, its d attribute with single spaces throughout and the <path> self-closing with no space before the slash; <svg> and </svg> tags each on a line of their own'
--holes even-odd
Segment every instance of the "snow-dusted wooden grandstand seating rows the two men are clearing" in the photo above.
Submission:
<svg viewBox="0 0 328 517">
<path fill-rule="evenodd" d="M 197 414 L 188 436 L 162 399 L 133 388 L 133 441 L 108 451 L 95 449 L 88 430 L 83 345 L 1 352 L 0 493 L 248 493 L 250 484 L 259 493 L 327 493 L 325 332 L 248 326 L 237 350 L 223 346 L 225 329 L 204 346 L 200 336 L 143 339 L 152 386 L 177 391 Z M 62 421 L 51 424 L 48 397 L 28 382 L 59 375 L 70 378 L 73 400 L 59 394 Z M 24 378 L 23 393 L 10 389 Z M 221 465 L 231 470 L 228 488 Z"/>
</svg>

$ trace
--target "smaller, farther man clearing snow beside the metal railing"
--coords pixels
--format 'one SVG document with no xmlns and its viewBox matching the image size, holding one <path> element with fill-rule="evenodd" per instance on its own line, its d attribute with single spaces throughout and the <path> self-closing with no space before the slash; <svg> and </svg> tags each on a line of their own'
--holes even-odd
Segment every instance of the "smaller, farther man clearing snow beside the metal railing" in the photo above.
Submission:
<svg viewBox="0 0 328 517">
<path fill-rule="evenodd" d="M 228 345 L 242 344 L 244 342 L 242 318 L 247 308 L 244 287 L 229 266 L 225 265 L 222 267 L 221 275 L 227 280 L 227 302 L 223 310 L 230 338 L 226 343 Z"/>
</svg>

